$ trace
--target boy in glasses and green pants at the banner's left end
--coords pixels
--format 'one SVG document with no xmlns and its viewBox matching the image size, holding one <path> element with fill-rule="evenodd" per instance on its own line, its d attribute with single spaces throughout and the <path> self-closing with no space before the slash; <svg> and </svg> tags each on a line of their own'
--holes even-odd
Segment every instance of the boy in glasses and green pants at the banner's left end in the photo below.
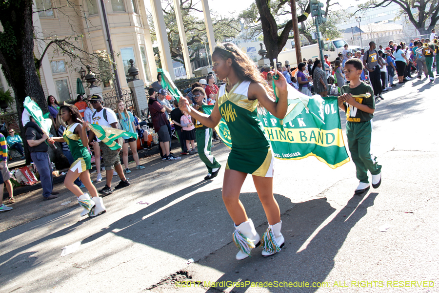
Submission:
<svg viewBox="0 0 439 293">
<path fill-rule="evenodd" d="M 199 106 L 198 110 L 201 113 L 204 113 L 202 105 L 206 105 L 203 103 L 203 99 L 206 96 L 204 89 L 202 87 L 196 87 L 192 90 L 193 97 L 195 98 L 195 102 Z M 217 159 L 212 155 L 212 128 L 206 127 L 200 123 L 200 121 L 192 118 L 192 122 L 195 126 L 195 137 L 197 139 L 198 146 L 198 155 L 200 156 L 201 161 L 206 165 L 208 174 L 204 177 L 204 180 L 209 180 L 214 177 L 217 177 L 218 172 L 220 171 L 220 163 L 217 162 Z"/>
</svg>

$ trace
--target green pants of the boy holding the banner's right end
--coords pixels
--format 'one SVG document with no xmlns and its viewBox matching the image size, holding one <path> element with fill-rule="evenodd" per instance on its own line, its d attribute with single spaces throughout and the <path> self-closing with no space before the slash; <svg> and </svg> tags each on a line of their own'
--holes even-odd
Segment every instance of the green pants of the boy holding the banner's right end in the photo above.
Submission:
<svg viewBox="0 0 439 293">
<path fill-rule="evenodd" d="M 372 175 L 381 172 L 377 157 L 370 152 L 372 141 L 372 120 L 366 122 L 346 122 L 346 136 L 352 161 L 357 168 L 357 179 L 363 183 L 369 183 L 367 170 Z"/>
</svg>

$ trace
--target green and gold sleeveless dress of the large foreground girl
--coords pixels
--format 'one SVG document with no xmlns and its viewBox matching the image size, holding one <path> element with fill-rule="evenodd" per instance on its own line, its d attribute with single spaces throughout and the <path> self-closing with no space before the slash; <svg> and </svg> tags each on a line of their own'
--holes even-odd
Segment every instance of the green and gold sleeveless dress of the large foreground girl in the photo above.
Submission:
<svg viewBox="0 0 439 293">
<path fill-rule="evenodd" d="M 237 83 L 229 93 L 227 84 L 220 87 L 216 105 L 232 138 L 232 151 L 226 169 L 273 177 L 273 152 L 258 118 L 258 100 L 248 99 L 249 85 L 247 81 Z"/>
</svg>

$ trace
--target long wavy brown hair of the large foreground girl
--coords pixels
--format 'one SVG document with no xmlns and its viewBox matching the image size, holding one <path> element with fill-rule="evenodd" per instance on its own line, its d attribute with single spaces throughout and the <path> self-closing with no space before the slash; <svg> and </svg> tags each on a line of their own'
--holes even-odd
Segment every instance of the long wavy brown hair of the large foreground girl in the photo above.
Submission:
<svg viewBox="0 0 439 293">
<path fill-rule="evenodd" d="M 222 60 L 230 58 L 232 60 L 232 68 L 240 81 L 259 83 L 265 88 L 268 95 L 273 97 L 273 90 L 268 87 L 267 82 L 256 68 L 255 63 L 235 44 L 231 42 L 218 44 L 212 53 L 212 56 L 214 55 Z"/>
</svg>

